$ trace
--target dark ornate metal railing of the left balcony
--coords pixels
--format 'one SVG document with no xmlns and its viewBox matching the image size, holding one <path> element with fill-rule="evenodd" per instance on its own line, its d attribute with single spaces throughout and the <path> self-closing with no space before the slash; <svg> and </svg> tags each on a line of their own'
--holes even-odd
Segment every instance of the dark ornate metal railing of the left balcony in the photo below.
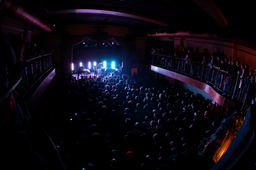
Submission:
<svg viewBox="0 0 256 170">
<path fill-rule="evenodd" d="M 32 58 L 26 63 L 22 81 L 27 91 L 52 68 L 52 54 Z"/>
</svg>

